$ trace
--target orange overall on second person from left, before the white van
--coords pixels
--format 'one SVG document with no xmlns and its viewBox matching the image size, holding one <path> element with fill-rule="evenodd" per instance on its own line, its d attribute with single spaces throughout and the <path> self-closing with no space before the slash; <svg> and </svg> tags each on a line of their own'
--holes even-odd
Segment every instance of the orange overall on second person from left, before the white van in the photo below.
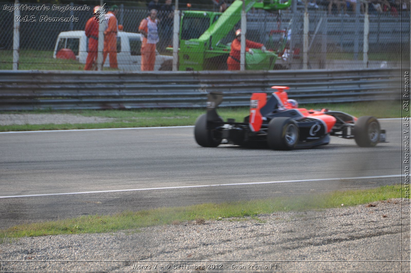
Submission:
<svg viewBox="0 0 411 273">
<path fill-rule="evenodd" d="M 103 51 L 103 64 L 106 60 L 107 54 L 109 54 L 110 67 L 118 68 L 117 64 L 117 31 L 118 24 L 117 18 L 113 12 L 108 12 L 109 24 L 104 31 L 104 51 Z"/>
</svg>

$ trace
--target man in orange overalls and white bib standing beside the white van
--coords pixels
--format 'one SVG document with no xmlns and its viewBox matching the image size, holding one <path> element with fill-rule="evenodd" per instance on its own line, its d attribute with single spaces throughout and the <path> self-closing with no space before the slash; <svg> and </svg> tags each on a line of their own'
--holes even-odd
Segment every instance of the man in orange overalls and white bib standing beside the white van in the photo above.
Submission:
<svg viewBox="0 0 411 273">
<path fill-rule="evenodd" d="M 143 35 L 141 44 L 141 71 L 154 70 L 156 44 L 159 42 L 157 10 L 150 10 L 150 16 L 141 20 L 139 31 Z"/>
</svg>

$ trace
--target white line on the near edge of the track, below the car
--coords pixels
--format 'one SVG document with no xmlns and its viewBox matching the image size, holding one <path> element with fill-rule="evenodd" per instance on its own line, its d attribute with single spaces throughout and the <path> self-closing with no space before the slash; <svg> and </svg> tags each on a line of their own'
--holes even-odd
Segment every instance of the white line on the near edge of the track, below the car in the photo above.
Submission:
<svg viewBox="0 0 411 273">
<path fill-rule="evenodd" d="M 28 195 L 0 196 L 0 199 L 2 199 L 2 198 L 16 198 L 16 197 L 38 197 L 38 196 L 50 196 L 50 195 L 71 195 L 71 194 L 85 194 L 85 193 L 102 193 L 102 192 L 133 192 L 133 191 L 140 191 L 140 190 L 170 190 L 170 189 L 184 189 L 184 188 L 194 188 L 194 187 L 257 185 L 257 184 L 326 181 L 326 180 L 347 180 L 347 179 L 394 178 L 394 177 L 402 177 L 402 176 L 405 176 L 405 175 L 404 174 L 398 174 L 398 175 L 390 175 L 390 176 L 360 176 L 360 177 L 346 177 L 346 178 L 323 178 L 323 179 L 283 180 L 283 181 L 230 183 L 230 184 L 197 185 L 197 186 L 157 187 L 157 188 L 143 188 L 143 189 L 129 189 L 129 190 L 99 190 L 99 191 L 93 191 L 93 192 L 65 192 L 65 193 L 28 194 Z"/>
</svg>

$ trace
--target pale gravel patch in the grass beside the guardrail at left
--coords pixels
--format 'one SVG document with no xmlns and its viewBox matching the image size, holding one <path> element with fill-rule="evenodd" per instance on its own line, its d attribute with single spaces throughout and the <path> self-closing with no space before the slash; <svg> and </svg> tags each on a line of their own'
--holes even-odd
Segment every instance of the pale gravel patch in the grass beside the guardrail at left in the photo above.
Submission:
<svg viewBox="0 0 411 273">
<path fill-rule="evenodd" d="M 103 123 L 115 118 L 86 117 L 77 114 L 0 114 L 0 125 Z"/>
</svg>

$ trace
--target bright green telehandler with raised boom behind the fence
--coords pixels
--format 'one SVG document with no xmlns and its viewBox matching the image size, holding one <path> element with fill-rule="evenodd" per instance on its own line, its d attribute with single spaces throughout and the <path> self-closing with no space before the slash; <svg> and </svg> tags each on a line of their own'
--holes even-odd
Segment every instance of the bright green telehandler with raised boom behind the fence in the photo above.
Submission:
<svg viewBox="0 0 411 273">
<path fill-rule="evenodd" d="M 245 11 L 252 7 L 275 11 L 286 9 L 291 0 L 245 0 Z M 241 19 L 242 0 L 234 1 L 225 12 L 184 11 L 180 21 L 178 61 L 180 71 L 225 70 L 230 53 L 227 43 L 234 39 L 234 27 Z M 231 34 L 231 35 L 229 35 Z M 285 43 L 284 43 L 285 45 Z M 253 49 L 246 54 L 246 69 L 274 69 L 278 56 L 275 52 Z"/>
</svg>

